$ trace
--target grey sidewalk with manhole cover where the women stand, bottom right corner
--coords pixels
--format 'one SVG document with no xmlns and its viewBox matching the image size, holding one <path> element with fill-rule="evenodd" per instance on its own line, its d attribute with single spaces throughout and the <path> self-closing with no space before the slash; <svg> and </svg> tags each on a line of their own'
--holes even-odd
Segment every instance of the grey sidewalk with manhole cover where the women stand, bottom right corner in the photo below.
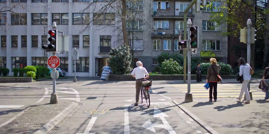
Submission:
<svg viewBox="0 0 269 134">
<path fill-rule="evenodd" d="M 212 133 L 246 134 L 268 133 L 269 100 L 255 98 L 250 104 L 237 99 L 193 99 L 184 103 L 176 100 L 178 106 L 189 114 L 192 119 Z"/>
</svg>

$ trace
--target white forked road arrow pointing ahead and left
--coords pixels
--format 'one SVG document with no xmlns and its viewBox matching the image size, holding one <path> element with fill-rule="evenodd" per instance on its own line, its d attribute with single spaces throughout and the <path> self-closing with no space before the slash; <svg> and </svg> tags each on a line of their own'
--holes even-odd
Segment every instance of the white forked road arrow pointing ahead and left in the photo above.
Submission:
<svg viewBox="0 0 269 134">
<path fill-rule="evenodd" d="M 163 113 L 161 110 L 159 110 L 158 108 L 154 107 L 154 115 L 153 117 L 157 118 L 161 118 L 161 120 L 163 121 L 163 124 L 152 124 L 150 119 L 147 120 L 142 127 L 156 133 L 154 127 L 159 127 L 159 128 L 164 128 L 168 131 L 169 134 L 176 134 L 175 130 L 173 130 L 173 128 L 169 125 L 169 123 L 166 121 L 166 119 L 164 117 L 169 117 L 168 115 L 166 115 L 165 113 Z"/>
</svg>

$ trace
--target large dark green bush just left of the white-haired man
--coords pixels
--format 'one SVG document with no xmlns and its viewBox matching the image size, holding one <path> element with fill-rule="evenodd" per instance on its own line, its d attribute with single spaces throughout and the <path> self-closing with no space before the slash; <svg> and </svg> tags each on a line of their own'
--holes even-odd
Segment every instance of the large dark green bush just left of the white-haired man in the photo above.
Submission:
<svg viewBox="0 0 269 134">
<path fill-rule="evenodd" d="M 111 48 L 108 60 L 112 74 L 130 74 L 132 71 L 132 56 L 126 44 L 120 45 L 117 49 Z"/>
</svg>

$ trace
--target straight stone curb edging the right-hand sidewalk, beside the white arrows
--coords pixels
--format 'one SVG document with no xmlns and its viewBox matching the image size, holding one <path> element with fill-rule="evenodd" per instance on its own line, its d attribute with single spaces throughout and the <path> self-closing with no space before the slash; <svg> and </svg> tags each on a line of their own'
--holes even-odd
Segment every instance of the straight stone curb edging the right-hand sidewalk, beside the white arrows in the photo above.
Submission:
<svg viewBox="0 0 269 134">
<path fill-rule="evenodd" d="M 212 127 L 207 125 L 204 121 L 199 119 L 197 116 L 195 116 L 193 113 L 191 113 L 189 110 L 187 110 L 184 106 L 180 105 L 177 101 L 172 101 L 177 105 L 179 108 L 181 108 L 187 115 L 189 115 L 193 120 L 195 120 L 201 127 L 203 127 L 205 130 L 207 130 L 209 133 L 212 134 L 219 134 L 217 131 L 215 131 Z"/>
</svg>

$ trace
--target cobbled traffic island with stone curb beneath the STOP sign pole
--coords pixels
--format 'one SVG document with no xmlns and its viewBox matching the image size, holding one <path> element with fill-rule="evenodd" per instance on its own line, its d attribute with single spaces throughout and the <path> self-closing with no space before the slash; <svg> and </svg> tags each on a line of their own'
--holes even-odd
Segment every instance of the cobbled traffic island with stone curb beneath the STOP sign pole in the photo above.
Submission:
<svg viewBox="0 0 269 134">
<path fill-rule="evenodd" d="M 48 133 L 77 105 L 76 102 L 59 101 L 58 104 L 40 102 L 25 106 L 22 112 L 0 124 L 0 133 Z"/>
</svg>

